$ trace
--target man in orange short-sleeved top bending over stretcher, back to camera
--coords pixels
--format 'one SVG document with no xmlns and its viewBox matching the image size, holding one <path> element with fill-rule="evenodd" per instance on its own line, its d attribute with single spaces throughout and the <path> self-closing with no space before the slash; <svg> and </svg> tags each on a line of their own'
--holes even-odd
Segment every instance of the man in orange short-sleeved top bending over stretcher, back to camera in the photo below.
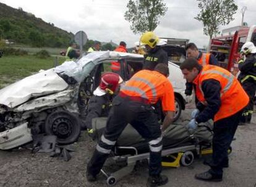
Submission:
<svg viewBox="0 0 256 187">
<path fill-rule="evenodd" d="M 96 146 L 87 166 L 87 180 L 95 181 L 116 140 L 129 123 L 145 140 L 150 148 L 148 186 L 160 186 L 168 182 L 161 173 L 162 132 L 173 121 L 174 92 L 167 79 L 168 66 L 159 64 L 154 71 L 141 70 L 121 87 L 113 100 L 113 108 L 108 116 L 105 132 Z M 160 129 L 151 104 L 161 100 L 166 117 Z M 132 138 L 132 137 L 131 137 Z"/>
</svg>

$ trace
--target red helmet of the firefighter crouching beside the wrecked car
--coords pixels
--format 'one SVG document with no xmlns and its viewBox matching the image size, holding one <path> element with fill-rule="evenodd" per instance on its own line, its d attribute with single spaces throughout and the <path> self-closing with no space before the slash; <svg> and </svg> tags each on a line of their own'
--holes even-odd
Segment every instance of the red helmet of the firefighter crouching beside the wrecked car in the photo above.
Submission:
<svg viewBox="0 0 256 187">
<path fill-rule="evenodd" d="M 122 82 L 122 78 L 119 76 L 117 73 L 104 73 L 101 76 L 100 80 L 100 89 L 101 90 L 106 90 L 109 89 L 112 92 L 115 92 L 118 84 Z"/>
</svg>

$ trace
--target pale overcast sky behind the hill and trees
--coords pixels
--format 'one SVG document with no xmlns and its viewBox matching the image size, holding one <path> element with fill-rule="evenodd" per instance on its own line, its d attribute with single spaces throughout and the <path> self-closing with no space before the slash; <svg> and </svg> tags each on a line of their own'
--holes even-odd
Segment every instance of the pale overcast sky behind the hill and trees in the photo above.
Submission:
<svg viewBox="0 0 256 187">
<path fill-rule="evenodd" d="M 124 20 L 126 4 L 129 0 L 0 0 L 14 8 L 22 7 L 26 12 L 31 12 L 35 17 L 42 18 L 45 22 L 54 23 L 59 28 L 76 33 L 85 31 L 89 39 L 98 41 L 113 41 L 117 44 L 126 41 L 128 47 L 139 41 L 140 35 L 130 31 L 130 23 Z M 195 20 L 200 9 L 196 0 L 164 0 L 168 11 L 160 18 L 160 25 L 155 33 L 160 37 L 186 38 L 195 42 L 198 47 L 208 44 L 208 36 L 203 34 L 202 23 Z M 255 0 L 235 0 L 238 10 L 234 15 L 235 20 L 229 23 L 228 28 L 241 24 L 241 9 L 247 6 L 244 21 L 248 25 L 256 25 Z"/>
</svg>

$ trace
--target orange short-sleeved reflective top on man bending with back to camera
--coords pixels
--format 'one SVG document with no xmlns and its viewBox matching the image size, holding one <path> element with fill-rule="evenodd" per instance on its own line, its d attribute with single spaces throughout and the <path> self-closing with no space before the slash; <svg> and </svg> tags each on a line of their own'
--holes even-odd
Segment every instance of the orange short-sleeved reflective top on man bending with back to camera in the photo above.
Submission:
<svg viewBox="0 0 256 187">
<path fill-rule="evenodd" d="M 120 92 L 130 97 L 142 97 L 155 104 L 161 99 L 163 111 L 175 111 L 171 82 L 157 71 L 141 70 L 121 87 Z"/>
</svg>

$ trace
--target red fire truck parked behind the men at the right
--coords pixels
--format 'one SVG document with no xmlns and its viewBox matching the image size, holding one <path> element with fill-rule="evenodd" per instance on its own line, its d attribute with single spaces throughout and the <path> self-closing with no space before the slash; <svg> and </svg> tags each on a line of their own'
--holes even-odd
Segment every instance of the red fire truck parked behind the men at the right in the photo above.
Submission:
<svg viewBox="0 0 256 187">
<path fill-rule="evenodd" d="M 221 36 L 211 40 L 210 52 L 218 59 L 221 67 L 236 75 L 239 52 L 247 41 L 253 42 L 256 46 L 256 25 L 235 26 L 223 30 Z"/>
</svg>

